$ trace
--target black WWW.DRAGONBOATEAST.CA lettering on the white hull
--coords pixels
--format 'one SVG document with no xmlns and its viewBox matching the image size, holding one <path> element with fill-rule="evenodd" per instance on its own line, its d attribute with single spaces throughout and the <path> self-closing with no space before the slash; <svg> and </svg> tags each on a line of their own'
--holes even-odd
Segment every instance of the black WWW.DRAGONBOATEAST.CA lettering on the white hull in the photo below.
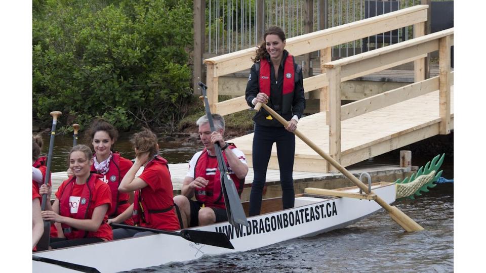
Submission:
<svg viewBox="0 0 486 273">
<path fill-rule="evenodd" d="M 235 236 L 236 238 L 239 238 L 252 234 L 268 233 L 285 229 L 289 226 L 316 221 L 335 215 L 338 215 L 338 211 L 336 209 L 336 204 L 333 201 L 332 203 L 328 202 L 313 207 L 295 209 L 277 215 L 267 216 L 265 218 L 248 220 L 249 226 L 241 226 L 241 229 L 239 230 L 235 229 L 231 224 L 216 226 L 216 232 L 226 233 L 231 240 Z"/>
</svg>

